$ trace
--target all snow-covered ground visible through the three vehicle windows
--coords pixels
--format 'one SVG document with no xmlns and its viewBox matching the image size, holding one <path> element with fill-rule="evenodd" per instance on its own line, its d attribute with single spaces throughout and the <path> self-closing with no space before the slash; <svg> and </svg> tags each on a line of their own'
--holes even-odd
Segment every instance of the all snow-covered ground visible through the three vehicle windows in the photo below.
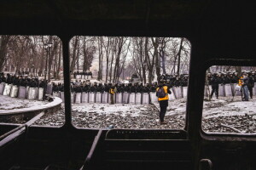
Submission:
<svg viewBox="0 0 256 170">
<path fill-rule="evenodd" d="M 15 109 L 44 105 L 41 101 L 12 99 L 0 97 L 2 109 Z M 47 113 L 41 117 L 37 125 L 61 126 L 64 123 L 64 105 L 61 110 Z M 202 129 L 206 132 L 234 133 L 222 124 L 235 127 L 241 133 L 256 133 L 256 99 L 241 101 L 241 97 L 220 97 L 204 101 Z M 166 125 L 159 123 L 159 105 L 127 105 L 127 104 L 73 104 L 73 124 L 86 128 L 176 128 L 183 129 L 186 112 L 186 99 L 176 99 L 169 102 L 166 112 Z"/>
</svg>

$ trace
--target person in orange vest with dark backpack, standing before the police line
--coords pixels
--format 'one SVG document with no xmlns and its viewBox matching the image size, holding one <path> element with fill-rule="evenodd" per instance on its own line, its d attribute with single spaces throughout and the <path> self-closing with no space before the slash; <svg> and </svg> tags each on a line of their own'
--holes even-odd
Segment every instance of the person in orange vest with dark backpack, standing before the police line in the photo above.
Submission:
<svg viewBox="0 0 256 170">
<path fill-rule="evenodd" d="M 171 94 L 170 89 L 166 86 L 165 82 L 160 82 L 158 88 L 156 88 L 156 96 L 158 97 L 158 101 L 160 104 L 160 124 L 166 124 L 164 121 L 166 116 L 166 110 L 168 106 L 169 95 Z"/>
</svg>

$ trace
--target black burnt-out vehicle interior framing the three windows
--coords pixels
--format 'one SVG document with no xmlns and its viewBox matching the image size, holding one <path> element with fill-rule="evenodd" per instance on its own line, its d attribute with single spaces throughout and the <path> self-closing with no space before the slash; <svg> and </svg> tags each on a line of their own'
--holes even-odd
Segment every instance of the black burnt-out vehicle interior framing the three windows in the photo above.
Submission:
<svg viewBox="0 0 256 170">
<path fill-rule="evenodd" d="M 211 65 L 256 65 L 255 4 L 236 1 L 2 1 L 1 35 L 56 35 L 63 48 L 65 124 L 0 125 L 0 169 L 256 169 L 256 135 L 204 133 Z M 186 37 L 191 42 L 184 130 L 83 129 L 71 116 L 73 36 Z M 39 115 L 40 116 L 40 115 Z"/>
</svg>

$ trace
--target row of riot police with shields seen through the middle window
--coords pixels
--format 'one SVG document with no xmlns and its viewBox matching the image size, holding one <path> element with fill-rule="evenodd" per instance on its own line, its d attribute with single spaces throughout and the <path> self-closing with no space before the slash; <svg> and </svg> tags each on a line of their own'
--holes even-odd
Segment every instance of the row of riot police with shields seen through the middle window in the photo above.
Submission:
<svg viewBox="0 0 256 170">
<path fill-rule="evenodd" d="M 171 88 L 172 94 L 170 99 L 182 99 L 187 96 L 187 87 L 172 87 L 171 84 L 166 84 Z M 71 101 L 73 104 L 80 103 L 110 103 L 110 88 L 114 88 L 113 94 L 114 103 L 116 104 L 134 104 L 134 105 L 148 105 L 158 102 L 155 95 L 155 89 L 158 87 L 157 82 L 152 85 L 147 83 L 97 83 L 93 85 L 90 82 L 81 82 L 80 80 L 71 83 Z M 64 93 L 53 90 L 53 96 L 60 97 L 62 100 Z"/>
</svg>

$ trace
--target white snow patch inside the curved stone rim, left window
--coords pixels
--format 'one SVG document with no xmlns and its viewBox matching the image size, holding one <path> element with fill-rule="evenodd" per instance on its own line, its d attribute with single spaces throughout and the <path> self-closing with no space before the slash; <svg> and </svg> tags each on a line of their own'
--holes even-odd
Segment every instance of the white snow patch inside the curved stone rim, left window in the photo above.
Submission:
<svg viewBox="0 0 256 170">
<path fill-rule="evenodd" d="M 28 100 L 28 99 L 17 99 L 9 96 L 0 95 L 0 111 L 1 110 L 14 110 L 21 108 L 29 108 L 32 106 L 46 105 L 47 101 Z"/>
</svg>

